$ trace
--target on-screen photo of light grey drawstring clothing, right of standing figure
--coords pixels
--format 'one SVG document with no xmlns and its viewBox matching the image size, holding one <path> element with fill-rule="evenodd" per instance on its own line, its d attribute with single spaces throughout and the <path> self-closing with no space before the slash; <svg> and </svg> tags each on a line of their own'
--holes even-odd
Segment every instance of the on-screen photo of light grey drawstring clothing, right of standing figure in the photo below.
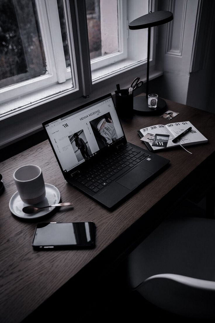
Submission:
<svg viewBox="0 0 215 323">
<path fill-rule="evenodd" d="M 118 139 L 110 112 L 90 121 L 99 149 Z"/>
</svg>

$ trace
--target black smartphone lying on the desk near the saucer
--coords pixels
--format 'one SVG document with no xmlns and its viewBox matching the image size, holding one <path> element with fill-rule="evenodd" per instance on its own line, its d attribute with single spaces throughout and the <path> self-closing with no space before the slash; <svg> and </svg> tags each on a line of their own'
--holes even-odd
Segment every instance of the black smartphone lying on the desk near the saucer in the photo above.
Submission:
<svg viewBox="0 0 215 323">
<path fill-rule="evenodd" d="M 32 245 L 35 250 L 94 248 L 95 231 L 94 222 L 38 223 Z"/>
</svg>

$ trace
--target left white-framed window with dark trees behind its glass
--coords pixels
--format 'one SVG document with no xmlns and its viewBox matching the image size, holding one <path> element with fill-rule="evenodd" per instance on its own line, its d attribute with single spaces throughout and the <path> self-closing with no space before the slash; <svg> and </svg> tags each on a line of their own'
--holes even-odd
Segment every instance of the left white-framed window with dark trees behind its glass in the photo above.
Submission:
<svg viewBox="0 0 215 323">
<path fill-rule="evenodd" d="M 76 90 L 64 12 L 64 0 L 0 2 L 0 113 Z"/>
</svg>

